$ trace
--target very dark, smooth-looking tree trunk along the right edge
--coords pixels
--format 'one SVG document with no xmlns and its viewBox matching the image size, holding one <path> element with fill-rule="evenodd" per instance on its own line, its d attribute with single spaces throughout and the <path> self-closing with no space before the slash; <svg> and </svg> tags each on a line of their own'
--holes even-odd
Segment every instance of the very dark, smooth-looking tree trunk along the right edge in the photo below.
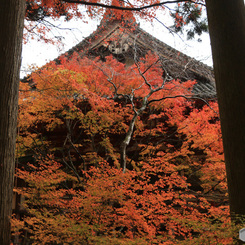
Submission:
<svg viewBox="0 0 245 245">
<path fill-rule="evenodd" d="M 231 214 L 245 215 L 245 9 L 206 0 Z"/>
</svg>

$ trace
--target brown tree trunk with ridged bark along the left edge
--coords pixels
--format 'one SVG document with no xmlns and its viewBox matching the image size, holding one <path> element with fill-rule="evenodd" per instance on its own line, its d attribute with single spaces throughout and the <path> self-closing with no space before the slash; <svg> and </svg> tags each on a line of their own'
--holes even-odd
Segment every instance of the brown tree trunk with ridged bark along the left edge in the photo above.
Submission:
<svg viewBox="0 0 245 245">
<path fill-rule="evenodd" d="M 0 244 L 10 244 L 18 84 L 25 0 L 0 7 Z"/>
</svg>

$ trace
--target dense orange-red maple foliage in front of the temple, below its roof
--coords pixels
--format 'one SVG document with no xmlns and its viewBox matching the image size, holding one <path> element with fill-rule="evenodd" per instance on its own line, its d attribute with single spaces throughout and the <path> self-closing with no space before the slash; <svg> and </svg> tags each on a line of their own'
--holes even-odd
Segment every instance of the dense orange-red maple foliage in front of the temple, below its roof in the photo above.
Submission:
<svg viewBox="0 0 245 245">
<path fill-rule="evenodd" d="M 165 81 L 151 53 L 127 67 L 111 56 L 59 63 L 34 72 L 32 90 L 21 84 L 17 154 L 36 160 L 17 171 L 26 186 L 15 190 L 25 197 L 15 234 L 33 244 L 229 244 L 217 103 L 195 108 L 195 82 Z M 134 121 L 122 166 L 151 86 L 160 89 Z"/>
</svg>

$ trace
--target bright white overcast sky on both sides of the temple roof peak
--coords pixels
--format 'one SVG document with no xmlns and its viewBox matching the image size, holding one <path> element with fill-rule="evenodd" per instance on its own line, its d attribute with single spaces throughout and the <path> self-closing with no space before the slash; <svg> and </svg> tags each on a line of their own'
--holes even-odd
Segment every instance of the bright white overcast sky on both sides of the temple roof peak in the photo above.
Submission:
<svg viewBox="0 0 245 245">
<path fill-rule="evenodd" d="M 166 25 L 171 25 L 168 13 L 161 15 L 161 17 L 163 18 L 162 20 L 160 19 L 161 21 L 165 21 L 164 23 Z M 167 22 L 166 19 L 168 20 Z M 201 36 L 201 42 L 198 42 L 197 38 L 196 40 L 186 41 L 186 38 L 183 36 L 180 38 L 177 35 L 173 36 L 170 34 L 169 31 L 157 21 L 154 21 L 152 24 L 144 21 L 139 22 L 140 27 L 154 37 L 171 47 L 212 66 L 210 39 L 208 34 Z M 61 44 L 57 46 L 45 44 L 42 41 L 37 42 L 36 40 L 31 40 L 27 44 L 24 44 L 22 51 L 21 78 L 27 73 L 30 73 L 30 66 L 34 65 L 40 67 L 81 42 L 85 37 L 96 30 L 99 20 L 88 20 L 88 24 L 85 24 L 81 20 L 65 22 L 61 19 L 55 22 L 53 21 L 53 24 L 59 26 L 61 29 L 53 29 L 52 33 L 49 33 L 49 35 L 51 38 L 54 36 L 62 37 Z"/>
</svg>

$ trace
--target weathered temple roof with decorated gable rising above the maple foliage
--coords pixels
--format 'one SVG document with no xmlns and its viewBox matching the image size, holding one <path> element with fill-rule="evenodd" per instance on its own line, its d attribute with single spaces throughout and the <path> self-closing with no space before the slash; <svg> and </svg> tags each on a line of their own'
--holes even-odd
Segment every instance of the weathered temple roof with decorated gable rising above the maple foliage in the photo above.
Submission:
<svg viewBox="0 0 245 245">
<path fill-rule="evenodd" d="M 104 59 L 113 55 L 119 61 L 132 64 L 134 58 L 144 56 L 148 51 L 156 53 L 164 68 L 173 79 L 181 81 L 196 80 L 193 92 L 202 98 L 216 98 L 215 80 L 211 67 L 191 58 L 153 37 L 136 23 L 132 12 L 123 16 L 115 15 L 113 10 L 105 13 L 97 30 L 72 49 L 74 52 L 91 58 Z"/>
</svg>

